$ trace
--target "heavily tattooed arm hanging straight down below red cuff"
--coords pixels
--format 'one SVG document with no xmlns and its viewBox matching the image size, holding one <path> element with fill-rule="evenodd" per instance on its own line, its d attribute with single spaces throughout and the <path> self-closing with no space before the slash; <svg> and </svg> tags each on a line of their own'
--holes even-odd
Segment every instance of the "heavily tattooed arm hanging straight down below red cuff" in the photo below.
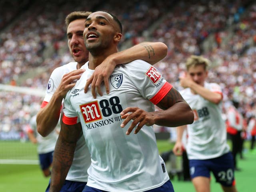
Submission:
<svg viewBox="0 0 256 192">
<path fill-rule="evenodd" d="M 54 150 L 50 192 L 59 192 L 64 184 L 73 161 L 76 141 L 81 134 L 82 126 L 80 123 L 75 125 L 62 123 Z"/>
</svg>

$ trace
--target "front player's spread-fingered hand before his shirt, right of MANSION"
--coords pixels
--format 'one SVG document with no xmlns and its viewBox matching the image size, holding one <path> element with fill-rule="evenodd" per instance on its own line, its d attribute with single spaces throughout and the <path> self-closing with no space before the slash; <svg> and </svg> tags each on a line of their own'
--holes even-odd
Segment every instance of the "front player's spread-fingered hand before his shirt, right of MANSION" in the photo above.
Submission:
<svg viewBox="0 0 256 192">
<path fill-rule="evenodd" d="M 124 128 L 128 122 L 132 121 L 132 124 L 126 131 L 126 135 L 129 135 L 132 130 L 136 127 L 134 130 L 134 134 L 137 134 L 142 126 L 152 126 L 154 125 L 154 115 L 150 112 L 146 112 L 138 107 L 128 107 L 124 109 L 121 113 L 121 118 L 124 119 L 124 121 L 121 124 L 121 127 Z"/>
</svg>

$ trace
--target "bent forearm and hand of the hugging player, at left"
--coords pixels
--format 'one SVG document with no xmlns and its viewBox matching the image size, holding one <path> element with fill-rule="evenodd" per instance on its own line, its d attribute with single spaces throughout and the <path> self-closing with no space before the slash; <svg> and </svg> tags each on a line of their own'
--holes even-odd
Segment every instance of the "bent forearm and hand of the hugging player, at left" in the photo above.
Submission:
<svg viewBox="0 0 256 192">
<path fill-rule="evenodd" d="M 75 86 L 73 81 L 79 79 L 80 74 L 83 72 L 83 69 L 79 69 L 65 74 L 60 85 L 52 95 L 50 102 L 39 110 L 36 116 L 37 131 L 43 137 L 50 134 L 56 127 L 60 118 L 62 99 L 66 96 L 68 90 Z"/>
</svg>

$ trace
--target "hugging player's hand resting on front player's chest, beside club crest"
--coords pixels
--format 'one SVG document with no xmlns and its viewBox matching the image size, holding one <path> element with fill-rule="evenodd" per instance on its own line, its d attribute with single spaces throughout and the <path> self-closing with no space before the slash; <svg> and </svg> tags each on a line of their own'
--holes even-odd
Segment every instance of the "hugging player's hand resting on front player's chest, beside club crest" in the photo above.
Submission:
<svg viewBox="0 0 256 192">
<path fill-rule="evenodd" d="M 100 65 L 98 65 L 95 68 L 94 73 L 88 80 L 86 81 L 86 84 L 84 86 L 84 92 L 86 93 L 88 91 L 88 88 L 91 85 L 92 88 L 92 96 L 96 98 L 96 90 L 100 96 L 102 96 L 102 91 L 100 89 L 100 86 L 102 82 L 105 84 L 106 93 L 109 94 L 109 83 L 108 78 L 114 71 L 114 68 L 116 67 L 116 63 L 111 58 L 106 58 Z"/>
</svg>

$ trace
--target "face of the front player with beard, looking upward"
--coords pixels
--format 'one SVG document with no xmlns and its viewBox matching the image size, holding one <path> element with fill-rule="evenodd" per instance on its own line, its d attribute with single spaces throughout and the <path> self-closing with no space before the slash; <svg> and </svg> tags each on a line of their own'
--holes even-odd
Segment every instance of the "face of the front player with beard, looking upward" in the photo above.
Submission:
<svg viewBox="0 0 256 192">
<path fill-rule="evenodd" d="M 98 11 L 86 19 L 84 43 L 89 51 L 109 48 L 116 34 L 116 26 L 110 14 Z"/>
</svg>

